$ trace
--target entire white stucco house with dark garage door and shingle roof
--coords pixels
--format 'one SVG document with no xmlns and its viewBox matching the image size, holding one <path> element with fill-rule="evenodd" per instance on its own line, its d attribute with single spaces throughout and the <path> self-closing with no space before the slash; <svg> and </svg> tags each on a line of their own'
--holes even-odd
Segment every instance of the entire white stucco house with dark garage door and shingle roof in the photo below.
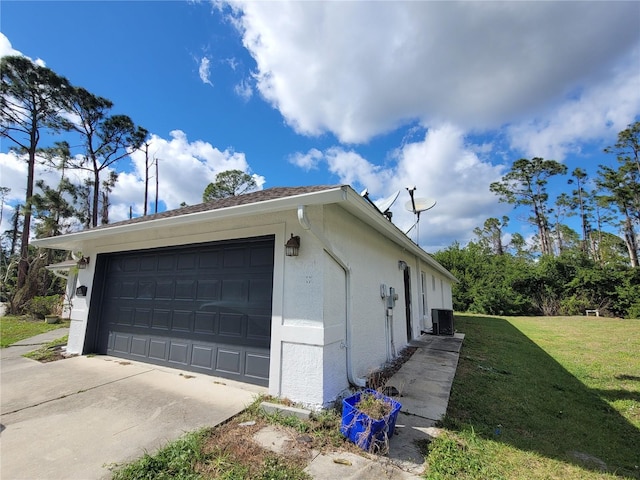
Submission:
<svg viewBox="0 0 640 480">
<path fill-rule="evenodd" d="M 308 405 L 363 386 L 432 309 L 452 309 L 455 278 L 349 186 L 272 188 L 33 243 L 86 263 L 70 274 L 68 352 Z"/>
</svg>

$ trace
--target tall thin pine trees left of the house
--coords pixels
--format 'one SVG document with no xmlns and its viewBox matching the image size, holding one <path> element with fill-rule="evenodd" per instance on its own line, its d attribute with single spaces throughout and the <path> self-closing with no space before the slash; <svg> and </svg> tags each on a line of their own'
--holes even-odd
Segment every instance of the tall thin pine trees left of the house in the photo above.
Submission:
<svg viewBox="0 0 640 480">
<path fill-rule="evenodd" d="M 0 137 L 11 142 L 16 158 L 27 162 L 24 203 L 15 208 L 12 229 L 5 232 L 2 244 L 3 290 L 5 296 L 10 290 L 20 306 L 56 285 L 44 278 L 41 268 L 31 271 L 55 256 L 48 252 L 40 261 L 42 254 L 30 249 L 32 219 L 35 235 L 42 237 L 65 233 L 74 220 L 84 228 L 108 223 L 109 194 L 118 179 L 114 167 L 132 151 L 148 147 L 148 131 L 127 115 L 113 114 L 110 100 L 26 57 L 2 57 L 0 70 Z M 60 138 L 63 132 L 74 137 L 74 147 L 66 140 L 43 145 L 43 139 Z M 38 161 L 59 172 L 57 186 L 36 181 Z M 84 171 L 87 179 L 74 184 L 70 170 Z M 9 189 L 1 188 L 4 209 Z"/>
</svg>

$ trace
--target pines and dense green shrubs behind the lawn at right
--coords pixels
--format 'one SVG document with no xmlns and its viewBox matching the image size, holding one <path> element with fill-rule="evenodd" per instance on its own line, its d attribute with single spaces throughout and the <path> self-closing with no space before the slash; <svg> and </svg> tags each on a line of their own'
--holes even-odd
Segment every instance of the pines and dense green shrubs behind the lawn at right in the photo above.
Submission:
<svg viewBox="0 0 640 480">
<path fill-rule="evenodd" d="M 617 168 L 599 165 L 593 178 L 582 168 L 543 158 L 520 159 L 490 186 L 500 201 L 527 211 L 531 239 L 507 234 L 509 217 L 488 218 L 464 247 L 434 257 L 459 283 L 454 309 L 502 315 L 603 315 L 640 318 L 640 122 L 605 148 Z M 550 179 L 567 191 L 551 199 Z M 567 225 L 577 217 L 580 231 Z"/>
</svg>

